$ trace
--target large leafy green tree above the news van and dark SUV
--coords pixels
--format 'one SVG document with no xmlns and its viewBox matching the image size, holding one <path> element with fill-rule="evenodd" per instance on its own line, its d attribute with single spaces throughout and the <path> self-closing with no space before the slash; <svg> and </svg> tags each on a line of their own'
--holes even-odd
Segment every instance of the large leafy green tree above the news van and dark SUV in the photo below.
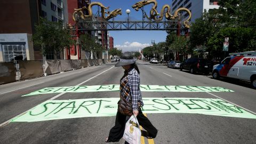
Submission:
<svg viewBox="0 0 256 144">
<path fill-rule="evenodd" d="M 229 52 L 255 50 L 256 1 L 221 0 L 219 5 L 218 10 L 205 11 L 191 26 L 191 47 L 205 47 L 213 57 L 223 58 L 223 42 L 229 37 Z"/>
</svg>

